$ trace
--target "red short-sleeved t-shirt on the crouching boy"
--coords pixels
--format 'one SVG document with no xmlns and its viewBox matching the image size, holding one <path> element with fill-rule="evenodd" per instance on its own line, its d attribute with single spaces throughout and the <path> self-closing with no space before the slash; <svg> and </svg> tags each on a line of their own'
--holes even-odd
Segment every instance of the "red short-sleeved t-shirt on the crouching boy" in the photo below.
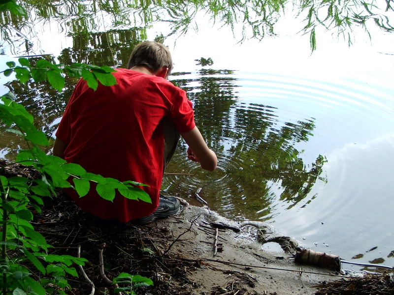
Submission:
<svg viewBox="0 0 394 295">
<path fill-rule="evenodd" d="M 103 177 L 149 185 L 143 189 L 152 204 L 118 194 L 110 202 L 99 197 L 94 185 L 82 198 L 67 190 L 82 209 L 103 219 L 128 222 L 150 215 L 159 205 L 164 161 L 161 119 L 169 118 L 181 133 L 192 130 L 195 121 L 184 90 L 157 76 L 116 70 L 114 86 L 99 84 L 94 91 L 84 80 L 78 82 L 56 137 L 67 145 L 67 162 Z"/>
</svg>

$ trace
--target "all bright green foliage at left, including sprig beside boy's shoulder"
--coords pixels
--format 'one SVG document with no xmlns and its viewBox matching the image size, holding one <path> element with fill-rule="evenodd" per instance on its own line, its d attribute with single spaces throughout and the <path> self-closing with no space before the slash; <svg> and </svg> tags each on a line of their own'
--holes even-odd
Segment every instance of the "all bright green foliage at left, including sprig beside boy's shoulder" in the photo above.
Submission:
<svg viewBox="0 0 394 295">
<path fill-rule="evenodd" d="M 23 9 L 15 1 L 3 2 L 0 5 L 1 11 L 8 9 L 23 13 Z M 61 91 L 65 86 L 66 74 L 71 77 L 82 76 L 93 89 L 97 89 L 99 83 L 104 86 L 116 84 L 111 74 L 114 70 L 108 66 L 55 64 L 46 59 L 39 59 L 34 65 L 31 65 L 29 59 L 20 58 L 18 61 L 19 65 L 14 61 L 8 61 L 8 69 L 3 73 L 5 76 L 15 73 L 15 77 L 21 83 L 31 79 L 35 82 L 47 80 L 52 87 Z M 98 194 L 109 201 L 113 201 L 116 190 L 128 199 L 151 203 L 150 197 L 139 188 L 144 184 L 135 181 L 120 182 L 110 177 L 91 174 L 77 164 L 66 163 L 61 158 L 46 155 L 40 148 L 49 145 L 45 134 L 35 128 L 33 116 L 22 105 L 13 101 L 12 95 L 0 97 L 0 119 L 6 131 L 22 137 L 29 147 L 20 150 L 16 161 L 33 166 L 41 175 L 40 179 L 5 177 L 0 171 L 2 294 L 65 295 L 65 290 L 69 287 L 66 275 L 78 276 L 72 265 L 84 265 L 86 259 L 49 254 L 51 246 L 32 226 L 32 210 L 40 212 L 43 198 L 54 195 L 55 188 L 72 187 L 83 197 L 89 192 L 91 182 L 97 184 Z M 33 272 L 40 275 L 33 276 Z M 134 277 L 131 280 L 134 284 L 131 292 L 138 286 L 149 283 L 147 278 Z"/>
</svg>

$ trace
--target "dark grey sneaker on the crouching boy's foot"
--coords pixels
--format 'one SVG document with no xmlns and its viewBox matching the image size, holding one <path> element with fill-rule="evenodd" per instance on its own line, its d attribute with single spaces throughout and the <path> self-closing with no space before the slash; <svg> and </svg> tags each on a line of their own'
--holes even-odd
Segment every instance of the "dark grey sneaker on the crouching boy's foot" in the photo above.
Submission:
<svg viewBox="0 0 394 295">
<path fill-rule="evenodd" d="M 156 219 L 163 219 L 179 212 L 180 203 L 177 198 L 166 197 L 160 194 L 159 207 L 151 215 L 133 219 L 130 222 L 133 224 L 144 225 L 155 221 Z"/>
</svg>

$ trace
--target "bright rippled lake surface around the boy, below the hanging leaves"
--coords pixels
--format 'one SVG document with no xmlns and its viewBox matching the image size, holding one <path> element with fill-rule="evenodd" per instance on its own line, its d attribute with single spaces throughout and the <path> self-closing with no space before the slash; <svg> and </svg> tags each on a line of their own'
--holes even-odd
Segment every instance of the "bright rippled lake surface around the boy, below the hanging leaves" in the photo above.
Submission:
<svg viewBox="0 0 394 295">
<path fill-rule="evenodd" d="M 145 33 L 74 33 L 62 36 L 58 50 L 51 44 L 51 53 L 65 63 L 119 66 Z M 147 32 L 151 39 L 156 34 Z M 164 40 L 174 53 L 170 80 L 188 92 L 219 164 L 214 172 L 201 170 L 187 160 L 181 142 L 167 172 L 191 175 L 166 175 L 163 190 L 202 206 L 195 198 L 199 191 L 209 208 L 226 217 L 267 220 L 305 247 L 355 263 L 394 266 L 394 87 L 383 71 L 393 66 L 393 57 L 379 56 L 382 71 L 376 62 L 368 70 L 345 61 L 331 66 L 325 51 L 297 59 L 294 52 L 282 55 L 283 47 L 271 41 L 231 45 L 230 35 L 222 41 L 225 34 L 219 34 L 218 43 L 201 28 L 176 43 Z M 202 56 L 213 64 L 203 65 Z M 350 60 L 352 52 L 343 50 L 343 56 Z M 37 126 L 53 136 L 76 81 L 67 79 L 58 93 L 46 84 L 1 79 L 3 93 L 12 90 Z M 12 159 L 23 143 L 0 134 L 0 157 Z"/>
</svg>

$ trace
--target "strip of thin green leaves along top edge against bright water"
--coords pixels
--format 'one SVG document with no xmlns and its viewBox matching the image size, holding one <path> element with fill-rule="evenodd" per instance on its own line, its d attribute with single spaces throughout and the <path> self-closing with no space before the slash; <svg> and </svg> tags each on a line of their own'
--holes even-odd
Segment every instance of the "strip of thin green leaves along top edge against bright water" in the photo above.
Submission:
<svg viewBox="0 0 394 295">
<path fill-rule="evenodd" d="M 5 4 L 2 5 L 13 7 L 13 13 L 23 14 L 23 8 L 18 10 L 14 0 L 3 1 Z M 355 27 L 361 27 L 368 33 L 372 25 L 387 32 L 394 30 L 390 19 L 394 13 L 393 0 L 25 0 L 23 6 L 32 16 L 56 19 L 62 28 L 71 33 L 89 33 L 97 29 L 103 21 L 103 14 L 112 20 L 112 28 L 137 24 L 148 28 L 154 22 L 162 21 L 171 25 L 169 34 L 184 33 L 195 23 L 197 26 L 197 13 L 202 12 L 214 22 L 230 26 L 234 32 L 239 25 L 242 39 L 262 39 L 275 35 L 277 22 L 291 14 L 299 19 L 299 31 L 309 34 L 312 50 L 316 49 L 316 33 L 319 28 L 336 31 L 349 44 Z M 3 13 L 0 17 L 3 36 L 7 36 L 6 31 L 14 23 L 15 20 L 9 13 Z M 31 29 L 30 24 L 26 23 L 25 26 L 26 29 Z"/>
</svg>

